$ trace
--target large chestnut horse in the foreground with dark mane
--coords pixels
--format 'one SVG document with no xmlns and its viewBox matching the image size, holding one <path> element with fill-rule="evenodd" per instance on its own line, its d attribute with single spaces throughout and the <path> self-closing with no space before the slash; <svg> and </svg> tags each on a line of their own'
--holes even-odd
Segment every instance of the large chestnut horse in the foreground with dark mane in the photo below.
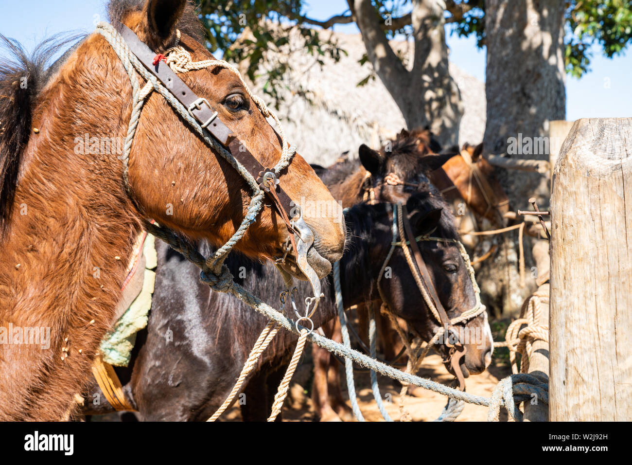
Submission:
<svg viewBox="0 0 632 465">
<path fill-rule="evenodd" d="M 113 1 L 109 15 L 157 54 L 179 29 L 195 61 L 212 59 L 185 0 Z M 104 37 L 88 35 L 46 83 L 43 60 L 2 39 L 15 63 L 2 60 L 0 70 L 0 420 L 58 420 L 85 388 L 111 328 L 142 218 L 221 245 L 245 217 L 252 192 L 154 92 L 131 147 L 130 198 L 116 154 L 93 151 L 92 142 L 79 147 L 94 137 L 125 139 L 130 121 L 130 79 Z M 260 163 L 277 163 L 279 137 L 236 75 L 208 68 L 181 77 Z M 297 202 L 334 202 L 298 155 L 281 183 Z M 342 255 L 344 228 L 337 218 L 305 220 L 315 236 L 310 264 L 322 277 Z M 273 259 L 287 238 L 280 215 L 264 208 L 236 248 Z M 49 340 L 33 344 L 31 330 L 40 328 Z"/>
</svg>

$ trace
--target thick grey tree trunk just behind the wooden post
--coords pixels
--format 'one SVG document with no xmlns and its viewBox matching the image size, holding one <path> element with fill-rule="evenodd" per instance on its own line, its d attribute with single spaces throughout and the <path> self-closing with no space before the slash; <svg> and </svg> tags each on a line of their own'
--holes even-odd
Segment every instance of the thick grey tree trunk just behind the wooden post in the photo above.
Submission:
<svg viewBox="0 0 632 465">
<path fill-rule="evenodd" d="M 548 121 L 564 120 L 566 113 L 563 24 L 564 2 L 559 0 L 485 1 L 485 152 L 549 159 Z M 497 171 L 513 209 L 527 209 L 529 197 L 548 209 L 549 185 L 544 176 Z M 532 278 L 525 288 L 517 284 L 517 236 L 506 235 L 499 256 L 487 264 L 498 269 L 485 270 L 499 292 L 485 297 L 510 314 L 535 289 Z M 531 249 L 527 239 L 527 270 L 534 264 Z"/>
</svg>

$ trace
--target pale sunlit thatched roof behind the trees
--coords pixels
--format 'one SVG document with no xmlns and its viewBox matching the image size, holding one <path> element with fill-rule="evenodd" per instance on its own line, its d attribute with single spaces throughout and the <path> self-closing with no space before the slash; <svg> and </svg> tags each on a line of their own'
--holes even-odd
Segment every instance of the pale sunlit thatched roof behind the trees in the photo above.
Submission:
<svg viewBox="0 0 632 465">
<path fill-rule="evenodd" d="M 379 78 L 357 87 L 356 84 L 372 72 L 370 63 L 358 63 L 365 53 L 362 37 L 333 32 L 320 34 L 332 34 L 348 55 L 343 54 L 338 63 L 320 56 L 325 63 L 321 67 L 315 56 L 302 49 L 298 35 L 290 34 L 289 47 L 283 54 L 289 55 L 291 71 L 284 82 L 287 89 L 281 91 L 284 101 L 277 114 L 288 140 L 296 144 L 301 155 L 310 163 L 327 166 L 345 151 L 352 157 L 357 156 L 360 144 L 377 148 L 383 140 L 405 127 L 405 123 Z M 406 56 L 406 42 L 392 42 L 392 46 Z M 269 59 L 275 59 L 273 52 L 268 54 Z M 459 128 L 459 145 L 477 144 L 485 130 L 485 85 L 453 64 L 450 72 L 459 86 L 465 109 Z M 264 84 L 264 79 L 255 82 L 255 94 L 263 96 Z M 297 92 L 299 89 L 310 90 L 312 102 Z M 264 99 L 269 101 L 270 98 L 264 96 Z"/>
</svg>

